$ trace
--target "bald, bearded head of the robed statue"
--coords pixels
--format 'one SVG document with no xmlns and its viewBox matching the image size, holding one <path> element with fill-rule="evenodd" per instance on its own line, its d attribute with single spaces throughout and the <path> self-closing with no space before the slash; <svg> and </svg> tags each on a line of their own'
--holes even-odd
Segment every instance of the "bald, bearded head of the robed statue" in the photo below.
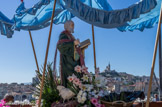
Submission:
<svg viewBox="0 0 162 107">
<path fill-rule="evenodd" d="M 64 24 L 64 29 L 69 31 L 70 33 L 74 33 L 74 22 L 69 20 Z"/>
</svg>

